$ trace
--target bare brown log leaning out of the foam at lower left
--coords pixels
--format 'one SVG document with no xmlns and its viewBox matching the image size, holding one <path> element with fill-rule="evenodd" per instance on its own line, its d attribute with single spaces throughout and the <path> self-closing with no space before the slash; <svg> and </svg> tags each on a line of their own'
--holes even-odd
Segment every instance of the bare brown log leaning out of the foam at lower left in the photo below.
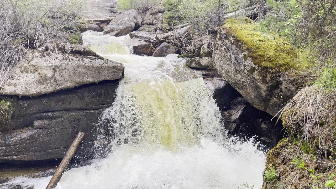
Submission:
<svg viewBox="0 0 336 189">
<path fill-rule="evenodd" d="M 67 168 L 72 156 L 75 154 L 76 149 L 79 143 L 82 141 L 85 133 L 79 132 L 75 140 L 72 142 L 71 146 L 69 147 L 67 153 L 65 154 L 64 158 L 62 159 L 61 163 L 58 165 L 56 172 L 52 176 L 48 186 L 46 189 L 55 188 L 58 181 L 61 179 L 65 169 Z"/>
</svg>

